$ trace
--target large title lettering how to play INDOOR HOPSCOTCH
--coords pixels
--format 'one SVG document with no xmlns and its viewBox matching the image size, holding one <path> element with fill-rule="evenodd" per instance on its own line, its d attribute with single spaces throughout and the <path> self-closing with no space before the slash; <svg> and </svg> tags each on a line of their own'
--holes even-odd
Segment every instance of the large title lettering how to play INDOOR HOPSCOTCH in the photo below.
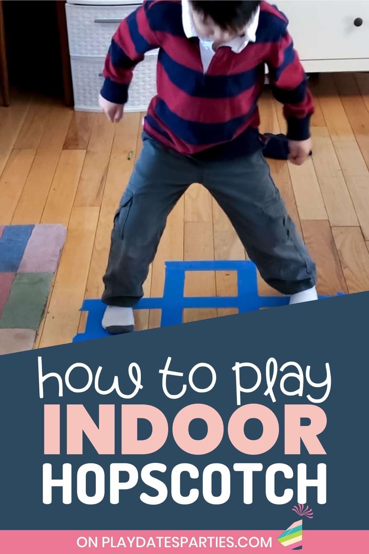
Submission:
<svg viewBox="0 0 369 554">
<path fill-rule="evenodd" d="M 191 391 L 206 395 L 216 387 L 215 368 L 208 363 L 198 363 L 191 368 L 188 377 L 183 372 L 174 371 L 171 368 L 172 360 L 167 358 L 163 369 L 158 371 L 162 382 L 163 394 L 166 398 L 175 402 L 176 399 L 185 396 L 188 387 Z M 293 371 L 287 372 L 288 368 Z M 193 403 L 181 408 L 171 423 L 171 437 L 176 447 L 186 454 L 194 456 L 194 463 L 179 463 L 168 469 L 163 463 L 148 463 L 138 471 L 136 465 L 124 462 L 124 456 L 149 455 L 163 448 L 169 438 L 169 424 L 165 414 L 156 406 L 150 404 L 99 404 L 98 425 L 94 422 L 83 404 L 67 404 L 63 416 L 66 418 L 66 445 L 62 452 L 60 426 L 61 408 L 59 404 L 44 404 L 44 454 L 45 455 L 82 455 L 84 454 L 84 435 L 93 445 L 99 455 L 122 455 L 121 463 L 111 463 L 108 468 L 110 485 L 106 490 L 106 470 L 99 464 L 84 463 L 76 470 L 76 498 L 82 504 L 98 504 L 108 497 L 111 504 L 119 504 L 124 492 L 137 487 L 139 499 L 144 504 L 158 505 L 165 502 L 170 496 L 174 502 L 181 505 L 189 505 L 196 502 L 200 495 L 212 505 L 224 504 L 231 496 L 231 483 L 237 482 L 237 491 L 243 490 L 243 503 L 253 502 L 253 482 L 261 472 L 264 472 L 264 487 L 267 500 L 272 504 L 287 504 L 296 495 L 299 504 L 306 503 L 308 489 L 315 490 L 318 504 L 326 503 L 326 464 L 318 463 L 315 468 L 309 469 L 306 464 L 299 463 L 295 470 L 285 463 L 274 463 L 267 468 L 257 462 L 256 456 L 271 450 L 280 440 L 280 424 L 277 416 L 271 408 L 263 404 L 248 403 L 252 398 L 250 394 L 258 389 L 265 389 L 263 396 L 272 405 L 277 402 L 276 390 L 284 397 L 304 397 L 306 403 L 285 404 L 284 406 L 284 455 L 300 455 L 301 443 L 310 455 L 325 455 L 323 445 L 318 438 L 327 423 L 326 414 L 319 404 L 323 404 L 331 391 L 331 371 L 329 363 L 322 365 L 324 368 L 324 380 L 315 382 L 310 376 L 310 366 L 305 371 L 297 362 L 285 362 L 278 368 L 277 361 L 269 358 L 266 362 L 265 372 L 251 362 L 235 363 L 231 367 L 230 378 L 235 385 L 235 411 L 228 421 L 224 422 L 215 408 L 206 403 Z M 86 373 L 87 382 L 81 388 L 75 388 L 71 384 L 71 375 L 76 371 Z M 144 388 L 141 368 L 137 363 L 131 363 L 128 367 L 128 378 L 131 392 L 123 393 L 119 387 L 119 378 L 114 376 L 111 387 L 100 388 L 102 367 L 99 366 L 95 375 L 91 368 L 84 363 L 74 363 L 64 376 L 64 379 L 54 372 L 44 373 L 41 356 L 38 358 L 39 397 L 44 398 L 44 383 L 48 382 L 51 391 L 51 382 L 58 392 L 58 397 L 63 397 L 64 387 L 69 391 L 82 394 L 94 388 L 96 393 L 102 396 L 115 395 L 131 401 Z M 195 384 L 195 375 L 198 371 L 209 373 L 209 382 L 206 387 L 199 388 Z M 222 368 L 222 371 L 225 371 Z M 242 386 L 243 379 L 252 378 L 251 387 Z M 251 377 L 252 376 L 252 377 Z M 186 381 L 186 382 L 185 382 Z M 286 384 L 292 383 L 287 388 Z M 304 394 L 305 389 L 308 394 Z M 132 390 L 133 389 L 133 390 Z M 315 389 L 315 394 L 312 396 Z M 53 389 L 54 390 L 54 389 Z M 170 391 L 170 392 L 169 392 Z M 320 392 L 320 394 L 319 394 Z M 55 391 L 54 391 L 55 395 Z M 51 396 L 51 394 L 50 394 Z M 206 396 L 200 397 L 206 398 Z M 119 402 L 122 402 L 119 401 Z M 155 398 L 160 403 L 159 398 Z M 245 402 L 245 403 L 243 403 Z M 247 402 L 247 403 L 246 403 Z M 119 415 L 118 415 L 119 414 Z M 120 452 L 116 452 L 116 417 L 121 419 Z M 152 432 L 148 438 L 138 438 L 138 421 L 148 420 Z M 190 423 L 195 419 L 204 420 L 207 433 L 202 439 L 194 439 L 189 432 Z M 250 419 L 257 419 L 262 424 L 261 437 L 249 439 L 245 434 L 245 423 Z M 309 425 L 303 425 L 302 419 L 309 419 Z M 196 466 L 196 456 L 213 452 L 222 440 L 229 440 L 232 446 L 240 453 L 251 456 L 251 463 L 234 463 L 231 468 L 222 463 L 211 463 L 205 466 L 200 475 Z M 170 472 L 170 490 L 160 478 L 160 474 Z M 294 473 L 295 471 L 295 473 Z M 314 473 L 311 477 L 312 472 Z M 308 478 L 309 473 L 309 478 Z M 56 476 L 58 474 L 58 476 Z M 95 491 L 87 494 L 87 475 L 92 474 L 95 480 Z M 153 475 L 155 474 L 155 475 Z M 213 494 L 213 476 L 220 476 L 220 494 Z M 283 475 L 288 480 L 297 475 L 297 490 L 285 488 L 283 494 L 276 492 L 276 475 Z M 183 491 L 181 480 L 185 476 L 194 486 Z M 288 482 L 288 481 L 287 481 Z M 139 483 L 153 491 L 152 494 L 139 491 Z M 43 503 L 53 502 L 53 490 L 62 489 L 63 504 L 71 504 L 72 496 L 72 464 L 64 463 L 43 464 Z M 218 491 L 217 491 L 218 492 Z"/>
</svg>

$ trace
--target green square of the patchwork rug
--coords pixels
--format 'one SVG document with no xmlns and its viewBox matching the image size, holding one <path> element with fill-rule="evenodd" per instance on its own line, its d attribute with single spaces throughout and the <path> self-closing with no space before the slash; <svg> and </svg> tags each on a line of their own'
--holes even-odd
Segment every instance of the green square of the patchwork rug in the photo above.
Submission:
<svg viewBox="0 0 369 554">
<path fill-rule="evenodd" d="M 52 273 L 17 273 L 3 307 L 0 329 L 19 329 L 22 325 L 22 329 L 37 331 L 52 281 Z"/>
</svg>

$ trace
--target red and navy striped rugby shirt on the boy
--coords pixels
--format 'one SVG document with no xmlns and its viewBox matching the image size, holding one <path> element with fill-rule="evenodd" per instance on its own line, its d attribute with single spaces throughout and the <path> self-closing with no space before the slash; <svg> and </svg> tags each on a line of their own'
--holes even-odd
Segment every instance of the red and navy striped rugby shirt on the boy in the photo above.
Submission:
<svg viewBox="0 0 369 554">
<path fill-rule="evenodd" d="M 181 2 L 145 1 L 113 36 L 101 94 L 124 104 L 134 66 L 159 48 L 147 134 L 188 156 L 241 155 L 262 146 L 257 101 L 267 64 L 273 94 L 284 104 L 289 139 L 308 139 L 314 104 L 287 25 L 284 14 L 261 2 L 256 42 L 240 53 L 218 48 L 204 74 L 199 39 L 184 33 Z"/>
</svg>

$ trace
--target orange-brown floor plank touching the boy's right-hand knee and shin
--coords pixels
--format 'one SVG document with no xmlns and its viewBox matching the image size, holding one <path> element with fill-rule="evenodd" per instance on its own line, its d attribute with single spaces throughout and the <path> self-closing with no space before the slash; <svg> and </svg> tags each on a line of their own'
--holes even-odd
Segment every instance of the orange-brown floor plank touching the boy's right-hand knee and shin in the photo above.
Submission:
<svg viewBox="0 0 369 554">
<path fill-rule="evenodd" d="M 318 294 L 347 293 L 344 274 L 329 222 L 302 220 L 301 225 L 306 246 L 316 264 Z"/>
</svg>

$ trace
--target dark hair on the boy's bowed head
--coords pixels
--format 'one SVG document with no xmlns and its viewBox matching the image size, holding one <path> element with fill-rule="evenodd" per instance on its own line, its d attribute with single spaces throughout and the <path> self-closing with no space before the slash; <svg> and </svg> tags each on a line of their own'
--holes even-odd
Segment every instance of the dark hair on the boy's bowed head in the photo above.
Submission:
<svg viewBox="0 0 369 554">
<path fill-rule="evenodd" d="M 222 29 L 240 30 L 250 21 L 256 12 L 260 0 L 206 0 L 200 2 L 191 0 L 191 5 L 196 12 L 204 16 L 210 16 Z"/>
</svg>

